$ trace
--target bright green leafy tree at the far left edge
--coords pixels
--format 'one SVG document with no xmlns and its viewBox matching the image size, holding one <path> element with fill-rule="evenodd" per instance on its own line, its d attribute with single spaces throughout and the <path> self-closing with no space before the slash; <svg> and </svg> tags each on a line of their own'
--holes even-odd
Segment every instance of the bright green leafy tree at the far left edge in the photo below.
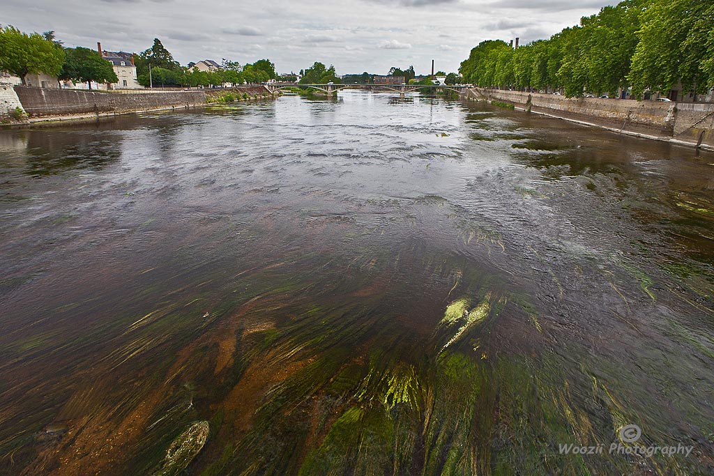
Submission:
<svg viewBox="0 0 714 476">
<path fill-rule="evenodd" d="M 26 84 L 28 74 L 58 76 L 64 50 L 39 33 L 25 34 L 14 26 L 0 29 L 0 69 L 19 76 Z"/>
</svg>

